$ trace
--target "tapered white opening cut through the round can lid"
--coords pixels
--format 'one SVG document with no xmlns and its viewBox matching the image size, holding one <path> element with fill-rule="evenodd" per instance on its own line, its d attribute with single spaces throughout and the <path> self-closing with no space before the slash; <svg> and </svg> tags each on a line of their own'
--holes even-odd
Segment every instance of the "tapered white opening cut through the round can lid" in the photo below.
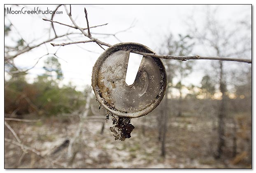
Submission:
<svg viewBox="0 0 256 173">
<path fill-rule="evenodd" d="M 140 67 L 140 63 L 143 55 L 139 55 L 136 53 L 130 53 L 128 67 L 126 72 L 126 84 L 133 85 L 135 78 L 137 76 L 137 72 Z"/>
</svg>

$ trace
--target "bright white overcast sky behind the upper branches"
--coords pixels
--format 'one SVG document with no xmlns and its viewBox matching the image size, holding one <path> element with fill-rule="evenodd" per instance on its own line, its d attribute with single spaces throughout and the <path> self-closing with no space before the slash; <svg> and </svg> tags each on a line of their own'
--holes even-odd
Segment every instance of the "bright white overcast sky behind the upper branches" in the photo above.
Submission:
<svg viewBox="0 0 256 173">
<path fill-rule="evenodd" d="M 5 7 L 12 7 L 12 10 L 21 10 L 22 8 L 22 6 L 16 7 L 10 5 L 5 5 Z M 54 10 L 56 5 L 26 5 L 25 9 L 29 10 L 34 7 L 40 7 L 42 10 L 46 10 L 48 7 L 49 10 Z M 202 25 L 200 19 L 205 17 L 203 14 L 207 8 L 206 5 L 72 5 L 73 18 L 75 18 L 80 27 L 84 28 L 86 27 L 84 7 L 86 7 L 88 12 L 90 26 L 108 23 L 108 25 L 102 27 L 92 28 L 91 32 L 114 34 L 115 32 L 126 30 L 133 24 L 133 28 L 130 28 L 126 32 L 120 32 L 116 36 L 122 42 L 138 42 L 156 52 L 161 49 L 161 44 L 170 32 L 174 35 L 179 33 L 187 34 L 189 27 L 186 23 L 189 16 L 194 16 L 198 26 Z M 214 8 L 216 5 L 212 5 L 212 7 Z M 61 7 L 58 11 L 63 11 L 63 14 L 56 14 L 54 20 L 71 25 L 65 9 Z M 226 25 L 229 25 L 248 14 L 251 14 L 251 5 L 219 5 L 217 16 L 219 20 L 227 21 Z M 49 28 L 50 22 L 43 21 L 41 18 L 50 19 L 51 15 L 7 14 L 5 23 L 11 21 L 17 30 L 19 30 L 23 39 L 34 44 L 36 43 L 34 42 L 35 39 L 40 39 L 38 40 L 40 42 L 49 38 L 49 30 L 47 28 Z M 79 32 L 58 24 L 54 26 L 58 35 L 64 34 L 67 31 Z M 10 35 L 11 38 L 5 38 L 5 44 L 12 44 L 12 39 L 19 38 L 14 28 L 12 28 Z M 53 36 L 53 32 L 51 31 L 51 37 Z M 109 44 L 119 43 L 117 39 L 111 36 L 107 38 L 101 35 L 93 36 Z M 87 40 L 87 38 L 79 35 L 79 37 L 74 37 L 72 40 Z M 53 41 L 52 43 L 62 42 L 70 41 Z M 79 46 L 63 46 L 58 50 L 57 55 L 63 59 L 59 60 L 64 74 L 63 83 L 67 84 L 71 81 L 72 85 L 77 86 L 77 89 L 83 90 L 84 85 L 91 85 L 93 65 L 103 50 L 95 43 L 79 44 Z M 43 45 L 40 48 L 35 48 L 29 53 L 15 58 L 16 65 L 22 68 L 32 67 L 37 61 L 36 58 L 47 53 L 46 47 L 49 53 L 54 53 L 59 48 L 51 46 L 50 43 L 46 46 Z M 96 53 L 88 52 L 81 47 L 95 51 Z M 209 55 L 210 53 L 207 50 L 197 50 L 193 54 Z M 36 67 L 29 71 L 30 75 L 28 75 L 28 78 L 30 81 L 37 74 L 44 72 L 42 66 L 46 58 L 42 58 Z M 139 59 L 133 63 L 140 63 Z M 207 60 L 198 60 L 195 66 L 195 72 L 186 78 L 184 83 L 187 85 L 199 85 L 203 72 L 205 71 L 204 67 L 207 67 L 205 64 L 207 63 Z"/>
</svg>

